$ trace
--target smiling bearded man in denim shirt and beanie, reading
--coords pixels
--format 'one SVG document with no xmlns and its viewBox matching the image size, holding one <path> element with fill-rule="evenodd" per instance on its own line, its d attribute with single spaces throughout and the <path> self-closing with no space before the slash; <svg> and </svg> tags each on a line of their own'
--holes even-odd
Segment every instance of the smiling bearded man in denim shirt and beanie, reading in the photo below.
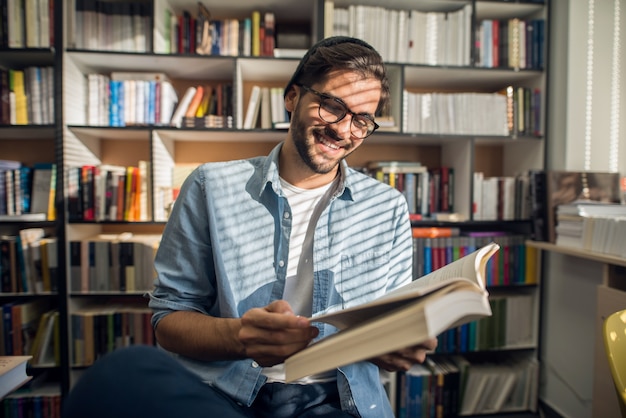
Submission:
<svg viewBox="0 0 626 418">
<path fill-rule="evenodd" d="M 176 384 L 195 382 L 189 393 L 206 416 L 392 417 L 378 367 L 407 370 L 435 348 L 426 341 L 284 383 L 286 358 L 336 332 L 308 317 L 412 279 L 404 197 L 344 161 L 375 131 L 388 98 L 371 46 L 325 39 L 285 89 L 285 140 L 267 157 L 204 164 L 186 180 L 157 253 L 150 306 L 159 345 L 195 375 Z M 135 361 L 142 356 L 152 354 Z M 157 375 L 151 385 L 162 388 Z"/>
</svg>

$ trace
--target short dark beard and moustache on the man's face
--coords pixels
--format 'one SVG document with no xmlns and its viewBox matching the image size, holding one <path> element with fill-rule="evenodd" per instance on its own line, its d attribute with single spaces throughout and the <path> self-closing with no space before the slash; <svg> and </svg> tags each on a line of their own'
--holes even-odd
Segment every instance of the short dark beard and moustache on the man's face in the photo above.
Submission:
<svg viewBox="0 0 626 418">
<path fill-rule="evenodd" d="M 314 145 L 317 142 L 316 137 L 318 135 L 324 135 L 330 140 L 335 140 L 338 143 L 343 142 L 337 137 L 335 131 L 333 131 L 329 125 L 317 126 L 309 128 L 302 120 L 297 117 L 297 112 L 292 114 L 291 119 L 291 137 L 300 156 L 301 163 L 309 170 L 317 174 L 328 174 L 337 168 L 337 165 L 350 155 L 356 147 L 351 143 L 348 148 L 344 147 L 345 153 L 339 158 L 331 158 L 324 154 L 318 154 L 314 150 Z"/>
</svg>

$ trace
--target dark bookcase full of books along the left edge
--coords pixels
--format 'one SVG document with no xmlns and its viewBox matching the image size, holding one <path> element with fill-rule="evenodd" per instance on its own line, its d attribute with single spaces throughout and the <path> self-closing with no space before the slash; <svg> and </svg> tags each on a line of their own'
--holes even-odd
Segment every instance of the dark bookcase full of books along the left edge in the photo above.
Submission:
<svg viewBox="0 0 626 418">
<path fill-rule="evenodd" d="M 16 5 L 15 2 L 11 3 L 13 3 L 11 6 Z M 11 23 L 8 24 L 7 20 L 4 21 L 7 24 L 4 28 L 6 31 L 0 36 L 0 70 L 6 74 L 10 71 L 23 72 L 24 89 L 28 95 L 24 108 L 27 119 L 23 120 L 21 117 L 18 119 L 18 113 L 8 108 L 10 96 L 8 89 L 5 89 L 7 86 L 2 86 L 2 102 L 6 105 L 3 105 L 0 120 L 0 159 L 17 161 L 25 170 L 31 170 L 30 173 L 26 171 L 28 174 L 23 175 L 22 185 L 34 181 L 37 170 L 43 169 L 44 166 L 62 166 L 60 141 L 62 109 L 61 102 L 56 100 L 62 63 L 61 54 L 57 51 L 61 50 L 62 32 L 59 30 L 60 23 L 55 25 L 56 20 L 61 17 L 62 5 L 59 3 L 53 6 L 52 3 L 45 1 L 38 3 L 38 7 L 41 10 L 24 18 L 23 37 L 17 36 L 14 31 L 17 18 L 14 20 L 9 18 Z M 17 12 L 19 8 L 12 10 Z M 3 177 L 3 182 L 5 179 L 6 177 Z M 2 354 L 34 355 L 27 365 L 27 373 L 32 376 L 32 380 L 3 400 L 2 407 L 7 411 L 7 416 L 9 410 L 26 413 L 25 405 L 35 413 L 41 413 L 41 406 L 46 404 L 47 410 L 51 413 L 52 411 L 60 413 L 60 400 L 64 388 L 69 384 L 68 364 L 64 360 L 68 348 L 66 344 L 58 344 L 67 336 L 67 330 L 62 326 L 60 319 L 65 312 L 64 281 L 58 279 L 65 276 L 63 261 L 65 227 L 63 216 L 59 216 L 63 213 L 63 196 L 62 193 L 55 195 L 49 191 L 62 190 L 62 176 L 58 176 L 56 181 L 53 177 L 44 184 L 46 187 L 37 191 L 43 199 L 42 202 L 47 203 L 44 205 L 47 206 L 46 210 L 30 213 L 27 206 L 23 206 L 22 214 L 16 215 L 16 212 L 10 214 L 6 212 L 8 208 L 3 206 L 3 214 L 0 217 L 3 246 L 13 242 L 10 237 L 20 237 L 20 232 L 42 232 L 45 238 L 41 243 L 37 242 L 41 244 L 37 245 L 37 248 L 45 250 L 46 256 L 50 257 L 47 263 L 42 264 L 42 268 L 46 270 L 47 278 L 52 277 L 56 283 L 52 287 L 44 286 L 44 283 L 38 281 L 41 278 L 39 274 L 25 274 L 24 271 L 9 269 L 10 277 L 17 279 L 17 285 L 12 285 L 10 289 L 3 288 L 0 292 L 4 321 L 9 320 L 12 324 L 11 327 L 5 325 L 3 328 Z M 5 187 L 6 185 L 3 184 Z M 6 193 L 6 189 L 4 187 L 3 189 Z M 30 203 L 33 202 L 36 190 L 31 192 Z M 2 199 L 5 200 L 6 196 L 3 194 Z M 20 196 L 21 199 L 16 199 L 15 203 L 28 201 L 28 194 Z M 15 210 L 17 211 L 17 207 Z M 56 212 L 56 216 L 50 216 L 51 212 Z M 19 243 L 17 241 L 17 244 Z M 53 247 L 50 246 L 51 243 Z M 56 256 L 54 251 L 47 251 L 54 247 L 57 249 Z M 27 254 L 32 254 L 30 245 L 29 248 Z M 37 253 L 41 255 L 43 251 Z M 15 257 L 19 260 L 17 253 Z M 13 259 L 13 256 L 10 259 Z M 6 261 L 3 257 L 5 274 Z M 32 273 L 32 270 L 30 272 Z M 55 272 L 58 280 L 54 280 Z M 42 327 L 44 322 L 46 326 Z M 12 340 L 16 342 L 11 347 L 6 344 L 9 329 L 13 332 Z M 44 329 L 46 332 L 43 332 Z M 39 330 L 42 331 L 41 345 L 31 340 L 38 338 L 36 335 Z M 16 340 L 17 334 L 22 334 L 22 338 Z M 33 406 L 36 403 L 38 407 Z"/>
</svg>

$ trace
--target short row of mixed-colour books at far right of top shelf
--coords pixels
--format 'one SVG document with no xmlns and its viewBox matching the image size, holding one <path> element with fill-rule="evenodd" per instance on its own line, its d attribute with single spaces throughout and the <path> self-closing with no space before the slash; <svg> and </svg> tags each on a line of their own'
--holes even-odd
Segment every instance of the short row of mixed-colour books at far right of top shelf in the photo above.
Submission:
<svg viewBox="0 0 626 418">
<path fill-rule="evenodd" d="M 485 19 L 476 26 L 476 65 L 541 69 L 544 43 L 544 19 Z"/>
</svg>

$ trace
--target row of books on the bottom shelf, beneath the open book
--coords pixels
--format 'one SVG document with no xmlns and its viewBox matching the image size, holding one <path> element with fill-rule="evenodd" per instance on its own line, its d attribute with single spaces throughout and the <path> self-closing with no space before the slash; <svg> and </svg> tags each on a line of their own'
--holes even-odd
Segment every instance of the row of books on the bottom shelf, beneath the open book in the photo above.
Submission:
<svg viewBox="0 0 626 418">
<path fill-rule="evenodd" d="M 530 356 L 502 363 L 429 358 L 399 374 L 400 418 L 535 411 L 539 364 Z"/>
</svg>

